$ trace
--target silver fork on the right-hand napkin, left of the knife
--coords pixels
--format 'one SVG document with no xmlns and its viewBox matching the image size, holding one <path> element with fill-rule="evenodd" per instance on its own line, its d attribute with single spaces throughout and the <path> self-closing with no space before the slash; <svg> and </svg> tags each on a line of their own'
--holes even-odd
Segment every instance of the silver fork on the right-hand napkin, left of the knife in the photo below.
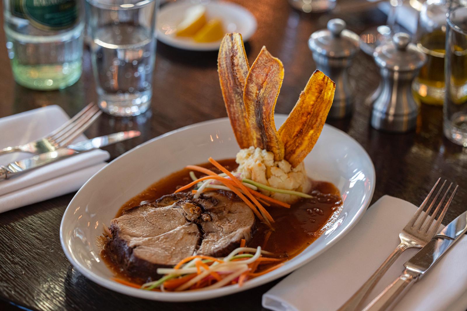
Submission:
<svg viewBox="0 0 467 311">
<path fill-rule="evenodd" d="M 433 198 L 432 202 L 428 206 L 425 213 L 423 213 L 423 209 L 425 205 L 430 200 L 433 192 L 436 190 L 436 187 L 439 184 L 441 178 L 438 178 L 438 181 L 433 186 L 432 190 L 426 196 L 425 200 L 422 204 L 418 207 L 417 211 L 413 215 L 412 219 L 410 219 L 409 223 L 402 229 L 401 233 L 399 233 L 399 238 L 401 243 L 396 249 L 389 255 L 389 257 L 382 263 L 381 267 L 379 267 L 375 273 L 370 276 L 367 282 L 361 286 L 359 290 L 354 294 L 354 296 L 350 297 L 349 300 L 345 304 L 343 304 L 338 311 L 357 311 L 361 310 L 364 306 L 362 305 L 364 300 L 368 297 L 368 294 L 373 289 L 376 283 L 381 279 L 381 277 L 386 273 L 389 267 L 396 261 L 396 259 L 403 253 L 406 249 L 417 247 L 422 248 L 428 243 L 432 237 L 438 232 L 439 225 L 441 225 L 441 221 L 443 220 L 446 211 L 451 204 L 451 200 L 449 200 L 446 205 L 443 207 L 441 213 L 439 214 L 438 220 L 435 222 L 433 226 L 432 223 L 435 219 L 436 214 L 439 212 L 439 209 L 443 205 L 446 196 L 451 189 L 453 183 L 449 185 L 446 192 L 444 193 L 443 197 L 439 201 L 439 204 L 436 206 L 435 210 L 432 213 L 432 216 L 428 216 L 428 213 L 432 210 L 433 206 L 435 205 L 441 191 L 443 190 L 444 186 L 446 185 L 446 180 L 439 188 L 438 192 L 436 193 L 435 197 Z M 457 190 L 457 186 L 455 187 L 452 196 L 455 194 Z M 428 219 L 428 221 L 426 221 Z M 425 223 L 426 221 L 426 223 Z"/>
</svg>

